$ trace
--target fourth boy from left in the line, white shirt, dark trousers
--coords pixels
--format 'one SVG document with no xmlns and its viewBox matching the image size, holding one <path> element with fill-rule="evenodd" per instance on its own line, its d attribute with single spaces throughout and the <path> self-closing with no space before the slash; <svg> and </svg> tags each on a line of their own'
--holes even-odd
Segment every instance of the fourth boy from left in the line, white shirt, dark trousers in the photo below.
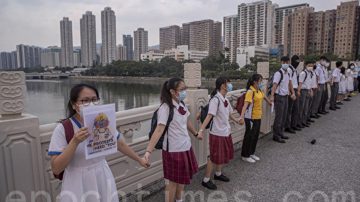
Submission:
<svg viewBox="0 0 360 202">
<path fill-rule="evenodd" d="M 327 64 L 327 58 L 325 56 L 320 57 L 320 61 L 316 64 L 315 75 L 316 81 L 318 84 L 318 89 L 316 94 L 314 95 L 314 105 L 312 109 L 312 117 L 311 118 L 319 118 L 318 115 L 319 109 L 321 106 L 321 100 L 323 98 L 323 94 L 325 92 L 325 83 L 326 83 L 326 76 L 325 76 L 325 68 Z"/>
</svg>

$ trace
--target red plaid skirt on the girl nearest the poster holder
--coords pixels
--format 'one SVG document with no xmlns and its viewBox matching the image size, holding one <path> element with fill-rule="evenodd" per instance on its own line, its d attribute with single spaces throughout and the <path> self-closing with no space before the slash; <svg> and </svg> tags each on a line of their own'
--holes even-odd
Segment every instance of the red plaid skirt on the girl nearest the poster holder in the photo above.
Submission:
<svg viewBox="0 0 360 202">
<path fill-rule="evenodd" d="M 190 184 L 198 171 L 195 154 L 190 148 L 184 152 L 162 151 L 164 178 L 178 184 Z"/>
</svg>

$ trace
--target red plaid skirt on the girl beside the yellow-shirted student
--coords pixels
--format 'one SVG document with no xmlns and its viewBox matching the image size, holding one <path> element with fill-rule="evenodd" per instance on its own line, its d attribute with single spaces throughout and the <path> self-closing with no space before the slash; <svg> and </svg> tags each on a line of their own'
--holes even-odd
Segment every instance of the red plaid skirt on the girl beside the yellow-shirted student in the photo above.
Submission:
<svg viewBox="0 0 360 202">
<path fill-rule="evenodd" d="M 217 165 L 227 164 L 234 158 L 234 145 L 231 135 L 227 137 L 210 134 L 210 160 Z"/>
</svg>

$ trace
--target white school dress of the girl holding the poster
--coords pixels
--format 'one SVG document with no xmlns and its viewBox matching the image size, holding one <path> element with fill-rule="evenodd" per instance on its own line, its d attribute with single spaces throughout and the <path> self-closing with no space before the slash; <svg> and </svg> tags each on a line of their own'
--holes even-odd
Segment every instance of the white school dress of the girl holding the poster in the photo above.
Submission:
<svg viewBox="0 0 360 202">
<path fill-rule="evenodd" d="M 75 118 L 70 120 L 76 134 L 82 125 Z M 119 139 L 120 133 L 117 136 Z M 65 129 L 59 124 L 52 134 L 48 155 L 60 155 L 67 146 Z M 98 193 L 100 200 L 89 196 L 86 201 L 119 201 L 115 179 L 105 157 L 85 159 L 85 147 L 86 141 L 77 146 L 72 160 L 65 168 L 59 201 L 72 201 L 71 197 L 81 201 L 82 196 L 87 192 Z"/>
</svg>

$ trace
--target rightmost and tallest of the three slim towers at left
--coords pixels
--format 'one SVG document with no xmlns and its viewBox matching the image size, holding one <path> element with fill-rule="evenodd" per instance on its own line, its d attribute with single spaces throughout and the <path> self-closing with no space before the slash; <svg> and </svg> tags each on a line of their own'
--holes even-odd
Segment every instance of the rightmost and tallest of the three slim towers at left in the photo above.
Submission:
<svg viewBox="0 0 360 202">
<path fill-rule="evenodd" d="M 116 60 L 116 18 L 110 7 L 101 11 L 101 63 L 103 65 Z"/>
</svg>

